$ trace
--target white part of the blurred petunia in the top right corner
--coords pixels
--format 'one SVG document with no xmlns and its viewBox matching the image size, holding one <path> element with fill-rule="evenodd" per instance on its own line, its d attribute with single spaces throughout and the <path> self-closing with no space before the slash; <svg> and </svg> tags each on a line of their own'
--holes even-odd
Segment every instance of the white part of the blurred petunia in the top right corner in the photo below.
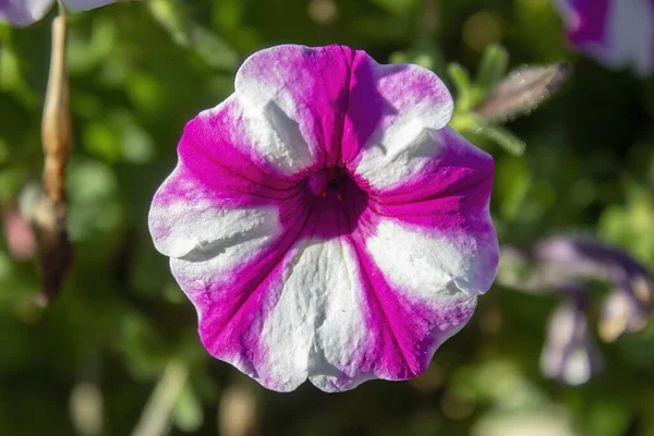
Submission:
<svg viewBox="0 0 654 436">
<path fill-rule="evenodd" d="M 616 66 L 633 65 L 645 75 L 654 70 L 654 2 L 613 0 L 609 2 L 608 37 Z"/>
</svg>

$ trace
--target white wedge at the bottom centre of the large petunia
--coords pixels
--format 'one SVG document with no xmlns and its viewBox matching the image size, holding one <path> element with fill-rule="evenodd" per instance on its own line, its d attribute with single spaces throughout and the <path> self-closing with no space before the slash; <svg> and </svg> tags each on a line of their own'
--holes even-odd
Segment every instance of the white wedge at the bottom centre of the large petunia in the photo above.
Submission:
<svg viewBox="0 0 654 436">
<path fill-rule="evenodd" d="M 264 324 L 266 378 L 281 391 L 307 377 L 326 391 L 354 387 L 366 379 L 355 378 L 366 340 L 356 255 L 340 239 L 300 243 L 306 245 Z"/>
</svg>

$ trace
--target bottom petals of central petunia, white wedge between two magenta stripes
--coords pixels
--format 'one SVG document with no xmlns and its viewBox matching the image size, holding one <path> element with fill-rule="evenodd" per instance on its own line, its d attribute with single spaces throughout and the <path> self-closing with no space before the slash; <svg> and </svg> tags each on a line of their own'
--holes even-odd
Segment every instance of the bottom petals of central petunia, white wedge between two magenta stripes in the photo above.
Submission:
<svg viewBox="0 0 654 436">
<path fill-rule="evenodd" d="M 391 286 L 363 240 L 312 238 L 320 220 L 303 222 L 241 265 L 171 261 L 207 350 L 267 388 L 293 390 L 308 377 L 341 391 L 414 377 L 472 315 L 474 296 Z"/>
</svg>

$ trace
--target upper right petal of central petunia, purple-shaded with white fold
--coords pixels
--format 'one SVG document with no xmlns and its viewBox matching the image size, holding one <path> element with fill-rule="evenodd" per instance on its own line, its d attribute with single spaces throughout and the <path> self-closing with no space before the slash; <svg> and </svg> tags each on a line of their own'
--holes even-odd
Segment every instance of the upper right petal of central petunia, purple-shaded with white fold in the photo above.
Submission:
<svg viewBox="0 0 654 436">
<path fill-rule="evenodd" d="M 359 56 L 352 66 L 343 160 L 373 189 L 400 183 L 440 154 L 432 141 L 451 119 L 445 84 L 417 65 L 380 65 Z"/>
</svg>

